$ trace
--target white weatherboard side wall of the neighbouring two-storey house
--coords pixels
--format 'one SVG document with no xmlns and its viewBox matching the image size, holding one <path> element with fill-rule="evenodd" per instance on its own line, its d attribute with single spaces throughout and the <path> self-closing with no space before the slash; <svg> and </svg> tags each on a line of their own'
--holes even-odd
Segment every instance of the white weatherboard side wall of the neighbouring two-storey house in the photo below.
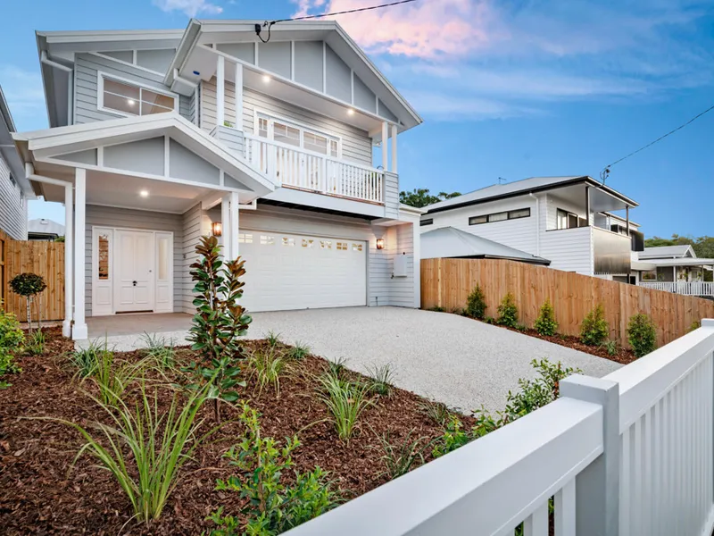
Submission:
<svg viewBox="0 0 714 536">
<path fill-rule="evenodd" d="M 469 218 L 484 214 L 494 214 L 520 208 L 530 208 L 530 217 L 502 222 L 481 223 L 469 225 Z M 425 214 L 422 219 L 433 219 L 434 223 L 422 227 L 421 232 L 453 227 L 454 229 L 469 232 L 478 237 L 500 242 L 505 246 L 515 247 L 527 251 L 532 255 L 535 252 L 535 199 L 528 196 L 513 197 L 502 201 L 493 201 L 480 205 L 464 206 L 436 214 Z M 545 258 L 547 255 L 541 254 Z"/>
</svg>

